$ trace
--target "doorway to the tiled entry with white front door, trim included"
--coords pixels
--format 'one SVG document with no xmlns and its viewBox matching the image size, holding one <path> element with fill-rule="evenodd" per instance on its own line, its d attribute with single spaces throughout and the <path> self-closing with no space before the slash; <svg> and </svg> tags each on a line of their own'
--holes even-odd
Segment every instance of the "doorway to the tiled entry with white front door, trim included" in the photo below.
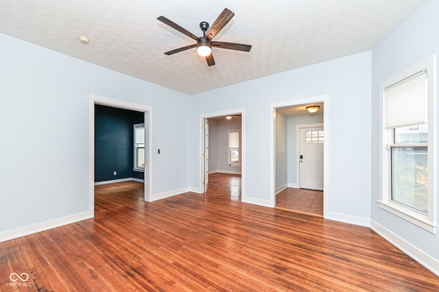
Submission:
<svg viewBox="0 0 439 292">
<path fill-rule="evenodd" d="M 303 111 L 306 111 L 307 106 L 311 105 L 320 106 L 320 112 L 311 114 L 311 116 L 305 115 Z M 288 195 L 292 195 L 297 200 L 301 212 L 309 210 L 316 213 L 316 208 L 318 208 L 316 206 L 320 204 L 318 214 L 324 217 L 324 214 L 327 213 L 329 181 L 327 175 L 324 174 L 327 173 L 326 169 L 328 169 L 328 157 L 324 154 L 329 149 L 329 143 L 327 143 L 329 141 L 328 109 L 328 96 L 270 104 L 270 113 L 272 113 L 272 119 L 270 119 L 270 199 L 274 208 L 278 208 L 276 200 L 279 201 L 279 204 L 285 200 L 281 193 L 282 195 L 289 193 Z M 313 119 L 312 116 L 316 116 L 316 114 L 320 114 L 320 120 Z M 285 125 L 283 126 L 283 124 Z M 302 125 L 305 127 L 300 131 Z M 287 130 L 282 129 L 282 127 L 287 127 Z M 305 143 L 300 143 L 300 134 L 302 134 L 302 140 Z M 307 134 L 309 145 L 306 143 Z M 312 143 L 313 141 L 319 142 L 319 134 L 320 142 L 324 141 L 325 143 Z M 302 144 L 302 149 L 300 149 L 300 144 Z M 305 157 L 306 151 L 308 153 Z M 311 153 L 314 155 L 313 158 L 309 159 Z M 302 155 L 302 159 L 300 159 L 300 155 Z M 287 162 L 285 163 L 285 161 Z M 320 165 L 316 162 L 320 162 Z M 300 175 L 300 173 L 302 174 Z M 291 202 L 288 203 L 291 204 Z M 311 205 L 313 206 L 311 207 Z M 305 210 L 303 210 L 304 208 Z"/>
</svg>

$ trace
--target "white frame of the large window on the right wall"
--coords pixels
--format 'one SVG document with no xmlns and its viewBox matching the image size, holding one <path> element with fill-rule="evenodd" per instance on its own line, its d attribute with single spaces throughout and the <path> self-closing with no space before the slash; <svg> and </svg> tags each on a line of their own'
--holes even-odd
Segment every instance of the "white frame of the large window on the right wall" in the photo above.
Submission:
<svg viewBox="0 0 439 292">
<path fill-rule="evenodd" d="M 436 143 L 436 64 L 435 56 L 431 56 L 410 67 L 409 69 L 395 75 L 394 77 L 379 84 L 379 207 L 406 221 L 409 221 L 420 228 L 436 234 L 436 188 L 435 176 L 437 171 L 436 156 L 434 153 Z M 427 143 L 394 143 L 395 127 L 385 128 L 385 88 L 397 84 L 416 73 L 427 70 Z M 392 200 L 392 147 L 418 147 L 427 145 L 428 154 L 428 186 L 427 186 L 427 214 L 420 212 L 410 206 L 405 206 Z"/>
</svg>

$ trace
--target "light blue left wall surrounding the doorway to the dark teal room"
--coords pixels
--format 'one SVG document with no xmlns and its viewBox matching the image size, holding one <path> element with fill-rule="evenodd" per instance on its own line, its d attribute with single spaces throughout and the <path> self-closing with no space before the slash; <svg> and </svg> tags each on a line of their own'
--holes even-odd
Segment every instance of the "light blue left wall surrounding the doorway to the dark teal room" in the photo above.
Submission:
<svg viewBox="0 0 439 292">
<path fill-rule="evenodd" d="M 3 34 L 0 48 L 0 232 L 88 210 L 91 93 L 152 106 L 153 194 L 189 187 L 189 96 Z"/>
</svg>

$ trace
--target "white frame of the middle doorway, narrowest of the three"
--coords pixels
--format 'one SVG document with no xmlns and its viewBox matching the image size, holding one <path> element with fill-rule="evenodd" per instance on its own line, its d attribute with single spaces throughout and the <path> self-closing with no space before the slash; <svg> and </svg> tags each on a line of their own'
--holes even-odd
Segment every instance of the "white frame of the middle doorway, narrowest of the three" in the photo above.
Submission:
<svg viewBox="0 0 439 292">
<path fill-rule="evenodd" d="M 198 171 L 198 193 L 203 191 L 203 177 L 204 177 L 204 119 L 211 119 L 216 117 L 224 117 L 233 114 L 241 114 L 241 200 L 246 197 L 246 109 L 245 108 L 235 108 L 233 110 L 224 110 L 221 112 L 209 112 L 205 114 L 200 114 L 200 145 L 198 158 L 200 159 L 199 171 Z"/>
</svg>

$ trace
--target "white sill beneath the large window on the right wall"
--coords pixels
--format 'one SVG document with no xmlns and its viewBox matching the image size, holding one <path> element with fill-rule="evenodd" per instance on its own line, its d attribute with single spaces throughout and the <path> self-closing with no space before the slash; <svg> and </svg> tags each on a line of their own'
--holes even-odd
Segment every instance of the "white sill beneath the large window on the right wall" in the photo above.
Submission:
<svg viewBox="0 0 439 292">
<path fill-rule="evenodd" d="M 394 202 L 382 202 L 378 201 L 379 208 L 391 212 L 393 215 L 401 217 L 402 219 L 413 223 L 420 228 L 427 230 L 433 234 L 436 234 L 436 224 L 429 221 L 427 216 L 420 214 L 419 212 L 412 211 L 408 208 L 404 208 L 403 206 L 396 204 Z"/>
</svg>

